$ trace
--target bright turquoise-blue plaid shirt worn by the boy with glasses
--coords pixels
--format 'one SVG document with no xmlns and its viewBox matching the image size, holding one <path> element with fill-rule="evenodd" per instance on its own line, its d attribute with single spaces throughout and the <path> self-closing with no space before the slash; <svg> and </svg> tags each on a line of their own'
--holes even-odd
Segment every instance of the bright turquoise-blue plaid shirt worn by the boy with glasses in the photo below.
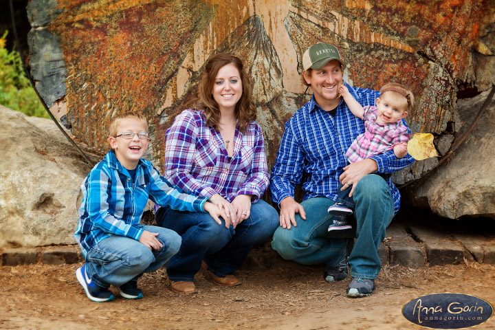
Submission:
<svg viewBox="0 0 495 330">
<path fill-rule="evenodd" d="M 140 159 L 135 182 L 131 181 L 131 175 L 113 151 L 83 181 L 83 203 L 74 237 L 85 256 L 92 246 L 111 235 L 139 240 L 143 232 L 140 221 L 148 198 L 174 210 L 205 212 L 206 198 L 177 190 L 145 159 Z"/>
</svg>

